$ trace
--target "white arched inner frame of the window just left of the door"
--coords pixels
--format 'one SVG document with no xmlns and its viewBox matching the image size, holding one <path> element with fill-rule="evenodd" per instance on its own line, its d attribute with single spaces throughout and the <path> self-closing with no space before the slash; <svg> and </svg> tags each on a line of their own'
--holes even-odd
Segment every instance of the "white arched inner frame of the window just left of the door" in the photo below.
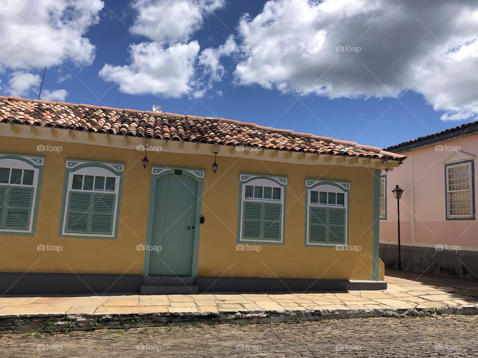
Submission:
<svg viewBox="0 0 478 358">
<path fill-rule="evenodd" d="M 68 163 L 67 163 L 68 166 Z M 89 176 L 98 176 L 98 177 L 115 177 L 115 191 L 98 191 L 98 190 L 83 190 L 83 189 L 72 189 L 73 184 L 73 176 L 74 175 L 89 175 Z M 119 202 L 119 182 L 121 180 L 121 176 L 115 174 L 114 172 L 100 167 L 83 167 L 76 171 L 72 171 L 68 174 L 68 183 L 66 187 L 66 195 L 65 195 L 65 208 L 63 213 L 63 225 L 61 228 L 61 235 L 62 236 L 81 236 L 81 237 L 100 237 L 100 238 L 114 238 L 116 233 L 116 222 L 118 219 L 118 202 Z M 102 234 L 86 234 L 86 233 L 69 233 L 66 232 L 66 223 L 67 223 L 67 215 L 68 215 L 68 198 L 70 197 L 70 192 L 92 192 L 92 193 L 109 193 L 109 194 L 116 194 L 115 199 L 115 212 L 113 217 L 113 230 L 111 235 L 102 235 Z"/>
</svg>

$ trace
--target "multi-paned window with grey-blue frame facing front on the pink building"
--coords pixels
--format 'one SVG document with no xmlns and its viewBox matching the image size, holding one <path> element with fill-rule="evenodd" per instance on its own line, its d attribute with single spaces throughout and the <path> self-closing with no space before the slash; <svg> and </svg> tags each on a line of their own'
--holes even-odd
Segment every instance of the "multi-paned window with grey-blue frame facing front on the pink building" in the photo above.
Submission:
<svg viewBox="0 0 478 358">
<path fill-rule="evenodd" d="M 472 161 L 445 166 L 448 219 L 474 218 L 473 170 Z"/>
</svg>

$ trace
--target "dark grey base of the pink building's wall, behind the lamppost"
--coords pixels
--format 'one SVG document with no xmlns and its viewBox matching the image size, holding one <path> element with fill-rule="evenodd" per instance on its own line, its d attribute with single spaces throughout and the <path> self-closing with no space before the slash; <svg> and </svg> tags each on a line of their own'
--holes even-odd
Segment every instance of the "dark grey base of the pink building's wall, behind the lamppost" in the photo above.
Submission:
<svg viewBox="0 0 478 358">
<path fill-rule="evenodd" d="M 398 245 L 380 244 L 380 259 L 386 268 L 398 269 Z M 435 248 L 401 246 L 402 269 L 418 273 L 477 279 L 478 252 L 437 251 Z"/>
</svg>

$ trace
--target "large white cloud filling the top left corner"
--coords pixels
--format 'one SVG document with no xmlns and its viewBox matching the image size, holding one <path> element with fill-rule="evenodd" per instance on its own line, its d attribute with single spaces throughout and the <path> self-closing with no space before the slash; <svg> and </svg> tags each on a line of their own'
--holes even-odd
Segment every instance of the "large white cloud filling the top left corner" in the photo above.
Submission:
<svg viewBox="0 0 478 358">
<path fill-rule="evenodd" d="M 0 70 L 90 65 L 95 46 L 84 35 L 102 8 L 100 0 L 2 1 Z"/>
</svg>

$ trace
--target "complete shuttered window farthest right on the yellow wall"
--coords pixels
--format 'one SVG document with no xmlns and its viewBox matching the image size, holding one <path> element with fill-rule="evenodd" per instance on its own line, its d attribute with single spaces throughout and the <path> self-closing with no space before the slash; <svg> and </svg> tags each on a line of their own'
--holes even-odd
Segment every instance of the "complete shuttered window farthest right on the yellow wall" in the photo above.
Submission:
<svg viewBox="0 0 478 358">
<path fill-rule="evenodd" d="M 350 183 L 306 180 L 307 245 L 346 245 Z"/>
</svg>

